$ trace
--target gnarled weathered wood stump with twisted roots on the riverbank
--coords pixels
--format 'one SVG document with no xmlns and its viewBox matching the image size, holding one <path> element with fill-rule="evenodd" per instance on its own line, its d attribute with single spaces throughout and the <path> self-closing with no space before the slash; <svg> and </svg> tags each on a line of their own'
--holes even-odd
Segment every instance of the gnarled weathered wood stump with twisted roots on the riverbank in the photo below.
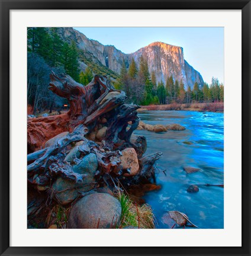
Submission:
<svg viewBox="0 0 251 256">
<path fill-rule="evenodd" d="M 90 153 L 96 155 L 98 162 L 95 180 L 99 185 L 117 187 L 120 180 L 139 182 L 141 177 L 154 176 L 153 165 L 162 153 L 143 156 L 146 138 L 134 136 L 131 139 L 139 125 L 139 106 L 126 104 L 126 94 L 114 89 L 107 76 L 94 76 L 86 86 L 64 74 L 52 73 L 50 79 L 49 89 L 66 98 L 70 110 L 57 116 L 28 119 L 30 185 L 51 188 L 58 176 L 76 184 L 85 183 L 87 174 L 75 172 L 74 166 Z M 63 134 L 57 136 L 60 133 Z M 134 178 L 130 177 L 130 169 L 121 164 L 121 152 L 126 148 L 134 148 L 136 161 L 139 161 L 139 172 Z M 72 149 L 78 151 L 73 166 L 66 161 Z"/>
</svg>

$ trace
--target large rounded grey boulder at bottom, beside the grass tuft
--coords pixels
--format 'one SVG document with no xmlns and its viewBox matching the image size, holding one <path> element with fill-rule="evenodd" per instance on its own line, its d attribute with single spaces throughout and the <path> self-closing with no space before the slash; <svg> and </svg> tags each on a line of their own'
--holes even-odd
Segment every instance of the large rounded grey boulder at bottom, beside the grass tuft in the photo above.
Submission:
<svg viewBox="0 0 251 256">
<path fill-rule="evenodd" d="M 121 204 L 106 193 L 95 193 L 83 197 L 69 213 L 69 229 L 109 229 L 120 222 Z"/>
</svg>

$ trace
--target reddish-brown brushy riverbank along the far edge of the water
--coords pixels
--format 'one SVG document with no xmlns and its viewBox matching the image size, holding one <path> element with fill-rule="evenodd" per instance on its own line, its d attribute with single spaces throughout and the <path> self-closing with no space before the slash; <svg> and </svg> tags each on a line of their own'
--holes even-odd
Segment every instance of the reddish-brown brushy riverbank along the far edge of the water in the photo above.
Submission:
<svg viewBox="0 0 251 256">
<path fill-rule="evenodd" d="M 191 103 L 191 104 L 165 104 L 141 106 L 138 111 L 146 110 L 186 110 L 186 111 L 208 111 L 224 112 L 224 103 Z"/>
</svg>

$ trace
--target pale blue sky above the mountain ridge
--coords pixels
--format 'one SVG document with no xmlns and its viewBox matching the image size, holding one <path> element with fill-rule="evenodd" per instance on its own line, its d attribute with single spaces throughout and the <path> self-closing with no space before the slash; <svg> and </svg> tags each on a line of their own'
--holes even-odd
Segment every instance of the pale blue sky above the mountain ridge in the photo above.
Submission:
<svg viewBox="0 0 251 256">
<path fill-rule="evenodd" d="M 210 84 L 212 76 L 224 83 L 223 27 L 78 27 L 89 39 L 133 53 L 155 41 L 181 46 L 185 60 Z"/>
</svg>

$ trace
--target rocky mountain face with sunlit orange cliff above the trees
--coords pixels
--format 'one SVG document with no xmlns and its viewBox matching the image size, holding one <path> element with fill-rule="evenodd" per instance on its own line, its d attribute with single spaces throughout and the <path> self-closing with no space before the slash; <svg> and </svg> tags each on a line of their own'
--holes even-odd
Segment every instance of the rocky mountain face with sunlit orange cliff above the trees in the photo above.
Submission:
<svg viewBox="0 0 251 256">
<path fill-rule="evenodd" d="M 88 39 L 84 34 L 70 27 L 60 28 L 59 35 L 68 42 L 75 41 L 79 49 L 85 50 L 116 73 L 120 73 L 123 60 L 129 66 L 131 59 L 134 58 L 139 66 L 140 56 L 143 56 L 147 59 L 149 71 L 155 71 L 157 82 L 166 82 L 168 76 L 172 75 L 174 80 L 182 80 L 185 88 L 188 86 L 193 88 L 195 82 L 199 85 L 204 83 L 201 74 L 186 62 L 183 48 L 179 46 L 155 42 L 137 52 L 125 54 L 114 46 L 104 46 L 96 40 Z M 82 63 L 81 66 L 84 67 L 85 64 Z"/>
</svg>

